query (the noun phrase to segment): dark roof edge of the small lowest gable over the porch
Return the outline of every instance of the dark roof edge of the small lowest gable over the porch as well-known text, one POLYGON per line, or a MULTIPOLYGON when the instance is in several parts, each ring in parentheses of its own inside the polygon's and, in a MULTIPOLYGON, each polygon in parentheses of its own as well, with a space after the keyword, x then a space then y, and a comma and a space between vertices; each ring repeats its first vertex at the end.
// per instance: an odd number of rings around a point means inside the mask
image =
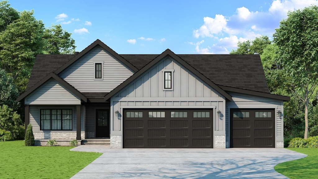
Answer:
POLYGON ((17 98, 17 101, 21 101, 22 99, 24 99, 25 97, 27 97, 29 94, 31 94, 34 90, 36 90, 38 87, 40 87, 43 83, 47 82, 49 79, 53 78, 54 80, 56 80, 59 84, 63 85, 67 90, 71 91, 74 95, 76 95, 77 97, 79 97, 81 100, 83 100, 84 102, 87 102, 87 98, 81 93, 79 92, 77 89, 75 89, 73 86, 71 86, 68 82, 64 81, 62 78, 60 78, 58 75, 56 75, 55 73, 51 72, 49 75, 45 76, 45 78, 43 78, 42 80, 40 80, 38 83, 36 83, 35 85, 33 85, 30 89, 28 89, 27 91, 25 91, 22 95, 20 95, 17 98))

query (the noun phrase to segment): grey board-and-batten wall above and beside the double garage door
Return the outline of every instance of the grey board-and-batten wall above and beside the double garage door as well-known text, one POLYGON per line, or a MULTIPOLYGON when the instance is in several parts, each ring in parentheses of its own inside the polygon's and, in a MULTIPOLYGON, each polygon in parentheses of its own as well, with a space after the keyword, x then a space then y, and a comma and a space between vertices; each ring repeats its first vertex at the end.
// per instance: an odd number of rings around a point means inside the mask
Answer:
POLYGON ((122 121, 115 111, 127 108, 195 108, 213 109, 214 134, 224 133, 224 120, 215 111, 225 111, 225 97, 199 79, 171 57, 165 57, 111 98, 111 135, 121 135, 122 121), (163 90, 162 70, 173 69, 173 90, 163 90), (214 125, 215 126, 215 125, 214 125))

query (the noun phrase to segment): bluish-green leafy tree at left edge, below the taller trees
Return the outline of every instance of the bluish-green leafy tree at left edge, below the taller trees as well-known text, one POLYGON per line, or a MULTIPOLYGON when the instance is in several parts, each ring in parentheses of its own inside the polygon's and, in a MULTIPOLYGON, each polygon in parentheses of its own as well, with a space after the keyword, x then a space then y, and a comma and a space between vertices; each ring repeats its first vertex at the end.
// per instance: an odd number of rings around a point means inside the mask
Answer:
POLYGON ((0 69, 0 106, 8 105, 10 108, 17 110, 17 97, 19 92, 13 83, 13 78, 7 75, 5 70, 0 69))

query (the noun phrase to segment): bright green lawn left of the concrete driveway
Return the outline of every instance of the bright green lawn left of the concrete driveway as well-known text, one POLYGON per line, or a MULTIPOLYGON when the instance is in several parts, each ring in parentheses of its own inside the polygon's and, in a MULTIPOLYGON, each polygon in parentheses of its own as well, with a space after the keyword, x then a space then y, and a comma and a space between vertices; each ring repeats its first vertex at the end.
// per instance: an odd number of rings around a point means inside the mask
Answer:
POLYGON ((0 142, 0 178, 70 178, 101 155, 71 148, 25 147, 23 140, 0 142))

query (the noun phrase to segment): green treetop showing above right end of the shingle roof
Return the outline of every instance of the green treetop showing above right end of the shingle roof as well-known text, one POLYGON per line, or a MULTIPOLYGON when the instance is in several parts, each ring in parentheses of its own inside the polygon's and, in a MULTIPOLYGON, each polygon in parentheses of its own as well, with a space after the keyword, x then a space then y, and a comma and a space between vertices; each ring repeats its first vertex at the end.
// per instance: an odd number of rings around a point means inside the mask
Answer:
POLYGON ((271 44, 271 41, 267 36, 261 35, 254 40, 247 40, 244 42, 238 42, 238 48, 232 50, 230 54, 262 54, 267 45, 271 44))

